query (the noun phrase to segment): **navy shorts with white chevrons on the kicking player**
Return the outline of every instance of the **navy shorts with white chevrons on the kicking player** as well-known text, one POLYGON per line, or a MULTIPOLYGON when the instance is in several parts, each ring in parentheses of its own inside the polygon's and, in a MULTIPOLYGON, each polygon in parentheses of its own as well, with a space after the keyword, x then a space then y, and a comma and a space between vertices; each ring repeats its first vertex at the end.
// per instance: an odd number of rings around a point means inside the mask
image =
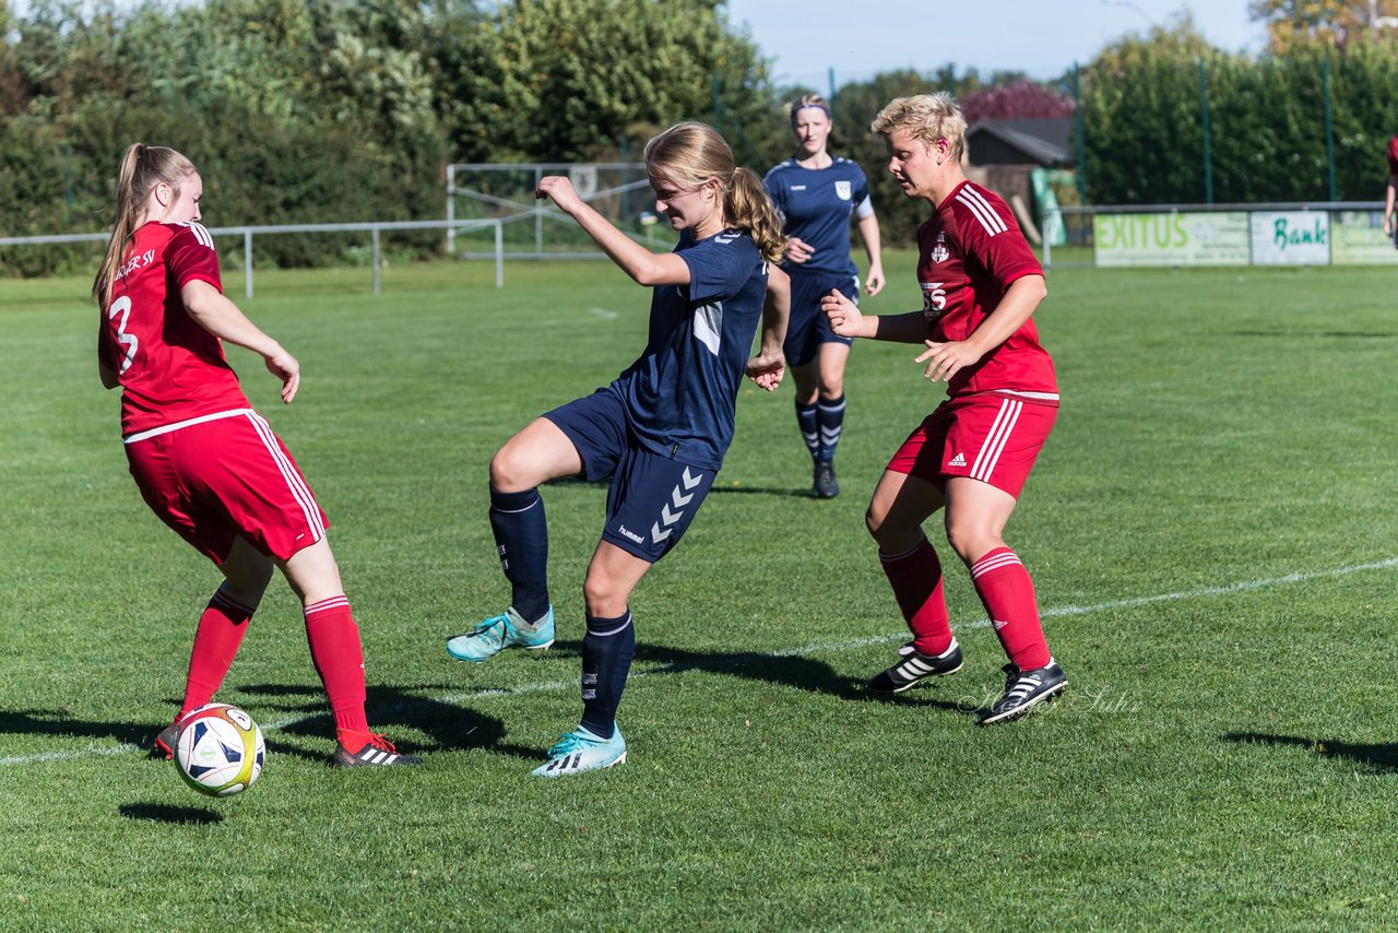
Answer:
POLYGON ((583 478, 611 477, 603 540, 650 564, 668 554, 709 495, 714 471, 646 449, 626 424, 626 403, 608 389, 544 417, 577 448, 583 478))

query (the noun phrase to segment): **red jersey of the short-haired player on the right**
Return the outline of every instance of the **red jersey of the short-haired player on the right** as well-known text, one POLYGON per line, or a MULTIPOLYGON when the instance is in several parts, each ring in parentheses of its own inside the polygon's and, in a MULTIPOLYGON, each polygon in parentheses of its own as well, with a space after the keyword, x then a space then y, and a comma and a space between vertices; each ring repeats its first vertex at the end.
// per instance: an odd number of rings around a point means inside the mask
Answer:
MULTIPOLYGON (((938 204, 918 228, 917 246, 923 315, 937 341, 965 340, 995 312, 1011 283, 1043 274, 1005 201, 970 182, 938 204)), ((949 396, 972 392, 1028 393, 1057 403, 1053 359, 1039 346, 1033 318, 946 387, 949 396)))

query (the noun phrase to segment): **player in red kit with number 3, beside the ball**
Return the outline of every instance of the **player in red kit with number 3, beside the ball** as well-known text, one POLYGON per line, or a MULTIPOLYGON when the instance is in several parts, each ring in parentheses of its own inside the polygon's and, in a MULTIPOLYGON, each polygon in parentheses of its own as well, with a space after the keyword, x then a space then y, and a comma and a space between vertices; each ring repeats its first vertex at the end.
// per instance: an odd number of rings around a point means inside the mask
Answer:
POLYGON ((204 183, 172 148, 122 157, 112 239, 92 284, 98 373, 122 387, 122 435, 147 505, 224 581, 199 618, 185 698, 154 754, 173 755, 180 718, 210 702, 233 663, 273 567, 301 597, 340 767, 412 765, 369 729, 359 628, 326 540, 329 520, 281 439, 253 411, 221 341, 261 355, 291 404, 301 364, 224 297, 200 227, 204 183))

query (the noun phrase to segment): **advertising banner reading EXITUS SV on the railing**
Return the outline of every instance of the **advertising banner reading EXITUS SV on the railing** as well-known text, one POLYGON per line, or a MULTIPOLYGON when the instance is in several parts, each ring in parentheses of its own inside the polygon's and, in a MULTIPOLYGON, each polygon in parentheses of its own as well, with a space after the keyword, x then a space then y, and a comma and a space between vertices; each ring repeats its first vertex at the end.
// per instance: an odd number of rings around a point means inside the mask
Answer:
POLYGON ((1247 266, 1247 211, 1096 214, 1097 266, 1247 266))

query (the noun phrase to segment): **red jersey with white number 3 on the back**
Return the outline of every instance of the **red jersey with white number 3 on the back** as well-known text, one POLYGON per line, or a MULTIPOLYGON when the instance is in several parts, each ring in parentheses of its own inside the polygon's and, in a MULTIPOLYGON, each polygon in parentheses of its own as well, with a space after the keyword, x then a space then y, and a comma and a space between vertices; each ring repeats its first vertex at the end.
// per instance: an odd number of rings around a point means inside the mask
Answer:
POLYGON ((218 337, 185 311, 179 290, 203 280, 222 291, 214 238, 199 224, 136 231, 112 284, 99 350, 122 383, 122 434, 247 408, 218 337))

